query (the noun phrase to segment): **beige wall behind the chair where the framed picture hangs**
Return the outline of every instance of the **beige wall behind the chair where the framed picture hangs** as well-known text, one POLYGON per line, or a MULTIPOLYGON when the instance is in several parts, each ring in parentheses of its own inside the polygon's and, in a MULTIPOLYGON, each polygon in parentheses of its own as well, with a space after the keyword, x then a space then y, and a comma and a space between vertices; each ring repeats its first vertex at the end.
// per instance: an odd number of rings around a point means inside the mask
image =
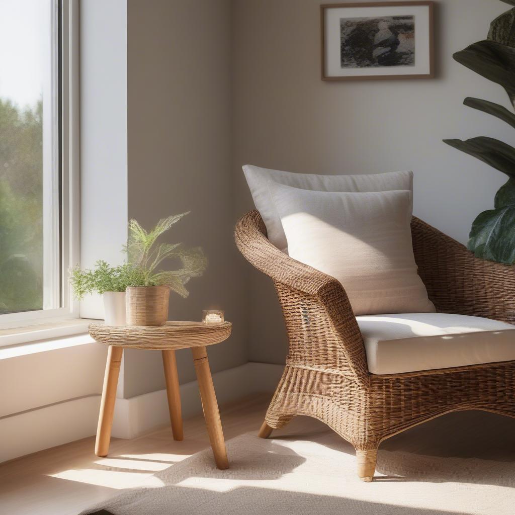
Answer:
MULTIPOLYGON (((320 80, 318 0, 235 0, 233 173, 237 214, 252 208, 241 165, 319 174, 413 169, 415 214, 466 242, 493 207, 506 177, 444 145, 476 135, 511 140, 510 128, 462 106, 466 96, 508 106, 504 91, 452 59, 486 37, 509 6, 485 0, 437 2, 433 80, 320 80)), ((286 337, 273 288, 251 274, 251 361, 283 363, 286 337)))

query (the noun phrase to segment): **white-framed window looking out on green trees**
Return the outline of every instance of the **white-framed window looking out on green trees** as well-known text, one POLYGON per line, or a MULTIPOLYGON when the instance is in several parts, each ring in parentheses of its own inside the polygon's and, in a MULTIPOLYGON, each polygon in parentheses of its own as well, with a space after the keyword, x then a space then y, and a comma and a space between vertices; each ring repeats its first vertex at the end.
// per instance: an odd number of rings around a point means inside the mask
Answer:
POLYGON ((0 328, 77 316, 77 3, 0 0, 0 328))

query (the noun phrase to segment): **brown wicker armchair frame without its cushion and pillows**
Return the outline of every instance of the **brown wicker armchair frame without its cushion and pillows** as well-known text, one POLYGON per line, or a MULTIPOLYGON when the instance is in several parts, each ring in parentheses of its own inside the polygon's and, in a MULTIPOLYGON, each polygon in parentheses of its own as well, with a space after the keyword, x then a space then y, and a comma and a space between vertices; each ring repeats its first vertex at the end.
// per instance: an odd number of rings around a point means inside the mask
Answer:
MULTIPOLYGON (((438 312, 515 323, 515 267, 477 259, 415 217, 411 232, 420 277, 438 312)), ((381 441, 410 427, 465 409, 515 417, 515 361, 371 374, 338 281, 274 247, 257 211, 238 221, 235 239, 245 258, 273 279, 289 339, 261 437, 296 415, 317 418, 354 445, 358 476, 370 482, 381 441)))

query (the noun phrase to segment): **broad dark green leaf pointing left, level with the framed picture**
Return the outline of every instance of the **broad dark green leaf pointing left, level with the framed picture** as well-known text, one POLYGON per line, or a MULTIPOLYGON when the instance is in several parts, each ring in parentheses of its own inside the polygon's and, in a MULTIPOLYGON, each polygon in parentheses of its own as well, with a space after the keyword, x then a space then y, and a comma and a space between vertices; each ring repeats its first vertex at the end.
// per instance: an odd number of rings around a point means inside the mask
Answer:
POLYGON ((460 64, 492 82, 501 84, 515 101, 515 48, 494 41, 479 41, 453 55, 460 64))

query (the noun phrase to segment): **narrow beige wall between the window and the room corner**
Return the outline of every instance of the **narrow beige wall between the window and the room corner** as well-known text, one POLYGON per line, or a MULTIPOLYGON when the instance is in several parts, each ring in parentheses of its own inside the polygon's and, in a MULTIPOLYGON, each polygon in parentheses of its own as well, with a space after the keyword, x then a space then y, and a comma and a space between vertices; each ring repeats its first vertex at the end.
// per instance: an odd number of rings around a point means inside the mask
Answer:
MULTIPOLYGON (((230 141, 230 1, 129 0, 128 212, 145 227, 191 210, 167 241, 201 245, 208 271, 170 297, 169 317, 200 320, 220 306, 231 338, 209 350, 213 371, 248 361, 242 263, 233 243, 230 141), (238 272, 238 270, 241 270, 238 272)), ((195 378, 178 352, 181 382, 195 378)), ((128 352, 124 397, 164 388, 158 352, 128 352)))

